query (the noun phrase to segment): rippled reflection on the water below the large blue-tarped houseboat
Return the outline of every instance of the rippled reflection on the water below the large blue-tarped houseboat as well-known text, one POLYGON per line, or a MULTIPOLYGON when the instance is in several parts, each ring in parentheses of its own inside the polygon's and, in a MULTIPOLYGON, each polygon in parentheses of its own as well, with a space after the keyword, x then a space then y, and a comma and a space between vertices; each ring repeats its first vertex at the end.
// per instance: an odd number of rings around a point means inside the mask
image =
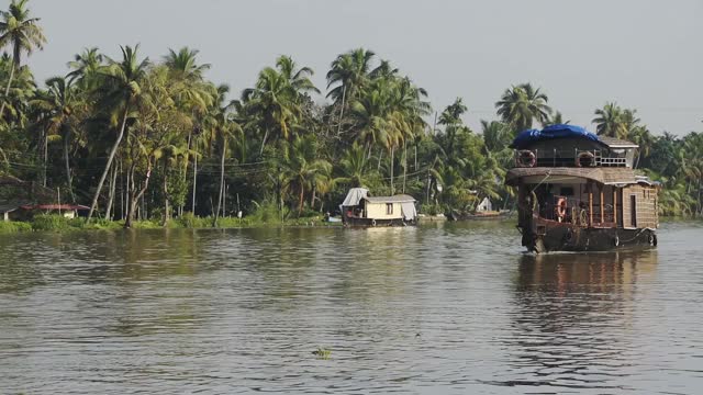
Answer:
POLYGON ((510 369, 529 372, 511 385, 625 390, 636 286, 656 274, 657 250, 524 255, 518 259, 510 369))

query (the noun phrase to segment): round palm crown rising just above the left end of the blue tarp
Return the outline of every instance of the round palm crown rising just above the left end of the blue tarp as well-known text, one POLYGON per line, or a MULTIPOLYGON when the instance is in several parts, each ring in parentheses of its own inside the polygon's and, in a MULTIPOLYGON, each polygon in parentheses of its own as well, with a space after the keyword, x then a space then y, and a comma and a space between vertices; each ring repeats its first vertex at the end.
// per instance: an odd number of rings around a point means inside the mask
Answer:
POLYGON ((506 89, 495 108, 502 121, 520 132, 532 128, 535 121, 544 124, 549 120, 551 108, 547 105, 548 101, 539 88, 535 89, 527 82, 506 89))

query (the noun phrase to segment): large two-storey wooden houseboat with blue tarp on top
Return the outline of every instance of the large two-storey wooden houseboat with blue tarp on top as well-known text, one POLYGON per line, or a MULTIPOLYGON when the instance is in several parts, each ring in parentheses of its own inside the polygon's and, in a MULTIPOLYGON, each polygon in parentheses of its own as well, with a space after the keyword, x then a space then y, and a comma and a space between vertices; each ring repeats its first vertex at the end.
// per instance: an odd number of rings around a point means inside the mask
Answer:
POLYGON ((534 252, 656 246, 659 184, 636 176, 638 146, 572 125, 517 135, 517 228, 534 252))

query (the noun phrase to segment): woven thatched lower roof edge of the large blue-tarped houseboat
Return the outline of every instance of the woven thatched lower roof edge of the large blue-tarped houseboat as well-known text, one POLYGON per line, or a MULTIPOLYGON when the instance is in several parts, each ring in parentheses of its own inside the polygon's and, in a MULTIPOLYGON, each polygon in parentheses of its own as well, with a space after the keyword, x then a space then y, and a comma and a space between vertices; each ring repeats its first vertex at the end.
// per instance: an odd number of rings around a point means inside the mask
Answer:
POLYGON ((634 184, 639 182, 631 168, 514 168, 505 174, 505 184, 515 187, 524 177, 545 177, 543 182, 557 182, 559 178, 582 178, 604 184, 634 184))

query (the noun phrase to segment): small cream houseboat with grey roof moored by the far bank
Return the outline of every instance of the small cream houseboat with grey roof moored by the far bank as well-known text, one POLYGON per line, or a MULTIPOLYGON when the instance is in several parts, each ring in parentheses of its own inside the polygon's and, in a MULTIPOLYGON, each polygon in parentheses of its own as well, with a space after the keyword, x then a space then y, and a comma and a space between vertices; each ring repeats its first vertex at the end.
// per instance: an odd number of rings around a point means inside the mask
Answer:
POLYGON ((417 223, 413 196, 370 196, 365 188, 353 188, 339 210, 345 226, 408 226, 417 223))

